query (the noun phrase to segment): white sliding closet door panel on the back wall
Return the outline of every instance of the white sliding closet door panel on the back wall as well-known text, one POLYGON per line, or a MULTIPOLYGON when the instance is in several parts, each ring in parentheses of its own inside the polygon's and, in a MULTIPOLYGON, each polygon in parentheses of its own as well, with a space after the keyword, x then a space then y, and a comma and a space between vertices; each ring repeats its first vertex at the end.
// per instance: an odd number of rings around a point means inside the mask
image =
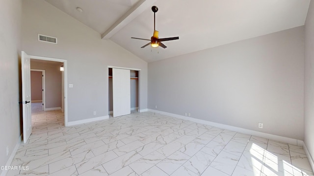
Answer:
POLYGON ((112 68, 113 117, 131 113, 130 70, 112 68))

